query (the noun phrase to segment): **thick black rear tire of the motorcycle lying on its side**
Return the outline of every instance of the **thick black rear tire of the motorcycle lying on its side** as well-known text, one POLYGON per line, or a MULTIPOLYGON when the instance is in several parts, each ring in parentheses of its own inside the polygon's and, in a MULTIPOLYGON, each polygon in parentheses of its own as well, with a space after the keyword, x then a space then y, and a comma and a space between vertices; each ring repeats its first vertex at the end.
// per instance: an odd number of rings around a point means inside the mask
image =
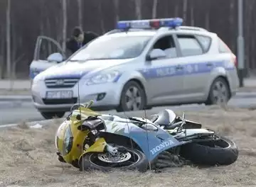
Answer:
POLYGON ((226 137, 220 137, 217 142, 188 143, 181 146, 181 157, 193 164, 229 165, 238 159, 238 147, 235 142, 226 137))

